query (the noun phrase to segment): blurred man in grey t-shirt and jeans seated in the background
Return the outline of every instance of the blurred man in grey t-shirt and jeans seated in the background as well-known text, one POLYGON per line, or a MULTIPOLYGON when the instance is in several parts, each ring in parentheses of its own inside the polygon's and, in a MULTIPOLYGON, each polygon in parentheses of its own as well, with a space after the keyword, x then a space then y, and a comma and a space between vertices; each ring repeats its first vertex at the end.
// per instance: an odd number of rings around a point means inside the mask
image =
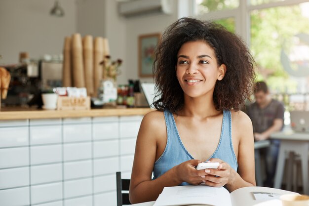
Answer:
MULTIPOLYGON (((247 114, 253 124, 254 140, 261 141, 270 138, 274 132, 283 128, 284 106, 272 99, 265 82, 256 82, 254 87, 255 102, 247 109, 247 114)), ((261 150, 265 157, 266 175, 265 186, 272 187, 275 174, 280 140, 270 140, 270 146, 261 150)))

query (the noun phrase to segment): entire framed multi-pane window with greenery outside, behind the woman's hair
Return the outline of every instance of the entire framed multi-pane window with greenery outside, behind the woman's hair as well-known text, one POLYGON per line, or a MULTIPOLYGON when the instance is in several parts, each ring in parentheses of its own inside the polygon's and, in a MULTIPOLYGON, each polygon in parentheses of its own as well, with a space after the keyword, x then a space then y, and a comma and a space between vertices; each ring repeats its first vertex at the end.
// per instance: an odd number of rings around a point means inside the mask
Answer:
POLYGON ((272 93, 309 93, 309 0, 194 0, 193 8, 242 36, 272 93))

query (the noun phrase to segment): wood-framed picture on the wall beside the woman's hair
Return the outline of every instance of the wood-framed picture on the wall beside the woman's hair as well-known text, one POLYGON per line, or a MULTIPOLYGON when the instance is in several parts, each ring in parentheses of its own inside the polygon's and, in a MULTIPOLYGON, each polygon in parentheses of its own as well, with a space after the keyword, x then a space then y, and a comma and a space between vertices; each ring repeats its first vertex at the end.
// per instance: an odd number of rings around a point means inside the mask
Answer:
POLYGON ((153 77, 154 50, 161 34, 147 34, 138 37, 138 66, 140 77, 153 77))

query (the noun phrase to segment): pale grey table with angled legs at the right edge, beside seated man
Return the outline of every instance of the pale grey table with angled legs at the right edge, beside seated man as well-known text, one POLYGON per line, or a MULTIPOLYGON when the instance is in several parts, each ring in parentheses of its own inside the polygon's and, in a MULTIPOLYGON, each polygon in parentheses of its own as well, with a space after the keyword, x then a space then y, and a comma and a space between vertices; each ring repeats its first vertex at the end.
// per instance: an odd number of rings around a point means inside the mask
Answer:
POLYGON ((274 188, 280 188, 285 164, 285 153, 294 152, 301 157, 302 177, 304 194, 309 195, 309 178, 308 178, 308 150, 309 150, 309 133, 295 132, 292 130, 276 132, 270 135, 271 139, 281 140, 276 173, 274 178, 274 188))

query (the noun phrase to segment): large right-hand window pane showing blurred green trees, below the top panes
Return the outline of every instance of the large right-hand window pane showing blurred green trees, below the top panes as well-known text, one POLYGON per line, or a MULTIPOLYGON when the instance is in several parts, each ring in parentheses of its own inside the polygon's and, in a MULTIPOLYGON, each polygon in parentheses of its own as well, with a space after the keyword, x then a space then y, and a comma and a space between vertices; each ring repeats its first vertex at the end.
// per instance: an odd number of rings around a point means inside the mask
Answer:
POLYGON ((309 3, 251 11, 251 51, 273 92, 309 90, 309 3), (297 23, 295 23, 297 22, 297 23))

